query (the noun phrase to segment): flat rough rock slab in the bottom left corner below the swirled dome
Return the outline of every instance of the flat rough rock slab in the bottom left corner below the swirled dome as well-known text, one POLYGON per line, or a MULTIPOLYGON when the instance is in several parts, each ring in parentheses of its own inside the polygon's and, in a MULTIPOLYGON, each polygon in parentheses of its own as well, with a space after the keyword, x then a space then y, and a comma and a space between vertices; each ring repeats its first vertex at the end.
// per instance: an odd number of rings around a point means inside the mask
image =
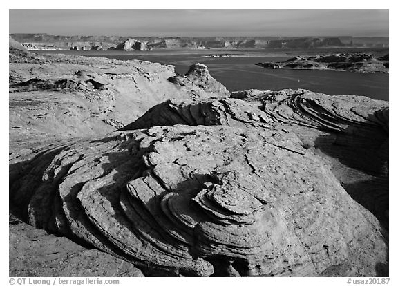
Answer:
POLYGON ((10 215, 9 276, 144 276, 131 263, 64 237, 49 235, 10 215))

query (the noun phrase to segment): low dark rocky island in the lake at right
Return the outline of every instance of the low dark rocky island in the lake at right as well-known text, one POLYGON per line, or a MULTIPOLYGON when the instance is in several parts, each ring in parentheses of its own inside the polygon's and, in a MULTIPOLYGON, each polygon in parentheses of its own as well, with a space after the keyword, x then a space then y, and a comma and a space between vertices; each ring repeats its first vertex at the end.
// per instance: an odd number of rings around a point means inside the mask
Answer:
POLYGON ((283 62, 258 63, 270 69, 291 68, 305 70, 346 70, 357 73, 388 73, 388 57, 375 59, 366 53, 339 53, 312 57, 297 56, 283 62))

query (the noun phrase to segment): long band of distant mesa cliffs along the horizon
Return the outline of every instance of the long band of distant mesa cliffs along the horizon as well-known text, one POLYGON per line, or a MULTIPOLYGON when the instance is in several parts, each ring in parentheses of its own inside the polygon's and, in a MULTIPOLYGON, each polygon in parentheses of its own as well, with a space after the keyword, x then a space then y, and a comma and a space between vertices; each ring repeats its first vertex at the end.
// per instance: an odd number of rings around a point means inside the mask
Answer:
POLYGON ((384 48, 389 44, 388 37, 120 37, 48 34, 10 34, 10 36, 16 41, 33 44, 38 49, 44 50, 384 48))

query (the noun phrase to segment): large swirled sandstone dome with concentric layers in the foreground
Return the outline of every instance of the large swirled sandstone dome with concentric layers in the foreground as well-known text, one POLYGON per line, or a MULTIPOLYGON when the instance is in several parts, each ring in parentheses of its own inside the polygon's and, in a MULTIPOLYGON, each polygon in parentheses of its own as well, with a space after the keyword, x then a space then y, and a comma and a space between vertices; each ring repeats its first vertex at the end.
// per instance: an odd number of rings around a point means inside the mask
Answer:
POLYGON ((156 126, 15 153, 30 224, 189 276, 375 276, 379 222, 285 131, 156 126))

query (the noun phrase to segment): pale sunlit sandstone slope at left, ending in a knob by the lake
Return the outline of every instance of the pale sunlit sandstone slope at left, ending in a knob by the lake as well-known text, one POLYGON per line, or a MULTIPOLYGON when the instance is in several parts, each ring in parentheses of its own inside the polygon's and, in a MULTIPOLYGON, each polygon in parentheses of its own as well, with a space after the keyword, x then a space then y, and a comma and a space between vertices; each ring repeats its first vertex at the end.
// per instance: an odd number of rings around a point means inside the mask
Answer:
POLYGON ((229 94, 206 68, 193 68, 189 84, 181 86, 167 80, 176 75, 173 66, 39 56, 14 46, 9 77, 11 150, 15 142, 31 145, 115 131, 169 98, 203 99, 218 95, 218 88, 221 95, 229 94))

